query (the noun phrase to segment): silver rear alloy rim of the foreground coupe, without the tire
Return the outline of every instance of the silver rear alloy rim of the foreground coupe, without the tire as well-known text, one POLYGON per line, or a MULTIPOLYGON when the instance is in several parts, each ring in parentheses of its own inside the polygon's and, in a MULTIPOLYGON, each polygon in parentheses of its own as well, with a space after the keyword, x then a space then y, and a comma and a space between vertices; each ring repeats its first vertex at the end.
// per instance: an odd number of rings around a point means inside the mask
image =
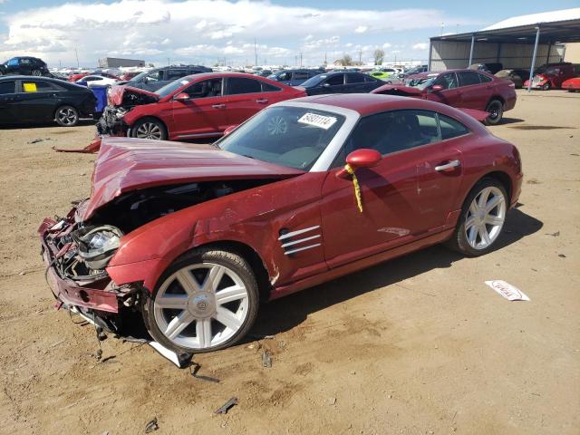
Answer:
POLYGON ((506 220, 506 198, 496 187, 482 189, 471 204, 465 220, 469 246, 481 250, 489 247, 501 233, 506 220))

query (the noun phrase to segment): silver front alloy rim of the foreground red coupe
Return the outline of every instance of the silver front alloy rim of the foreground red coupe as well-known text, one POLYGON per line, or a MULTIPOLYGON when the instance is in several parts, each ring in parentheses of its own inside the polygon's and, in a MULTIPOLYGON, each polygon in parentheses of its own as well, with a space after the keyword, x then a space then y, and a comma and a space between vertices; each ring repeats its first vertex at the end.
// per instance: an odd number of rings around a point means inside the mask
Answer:
POLYGON ((227 342, 248 315, 249 295, 236 272, 214 263, 179 269, 155 295, 155 323, 172 343, 207 349, 227 342))

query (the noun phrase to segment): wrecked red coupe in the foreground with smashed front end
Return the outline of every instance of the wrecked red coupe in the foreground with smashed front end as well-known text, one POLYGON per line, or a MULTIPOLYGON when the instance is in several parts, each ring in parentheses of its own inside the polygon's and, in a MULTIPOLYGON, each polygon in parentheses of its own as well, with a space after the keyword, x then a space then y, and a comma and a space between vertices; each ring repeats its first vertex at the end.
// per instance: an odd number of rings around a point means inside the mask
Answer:
MULTIPOLYGON (((58 304, 178 353, 240 340, 259 302, 446 242, 493 249, 516 147, 437 102, 324 95, 213 145, 107 138, 92 195, 39 228, 58 304)), ((340 289, 337 289, 340 291, 340 289)))

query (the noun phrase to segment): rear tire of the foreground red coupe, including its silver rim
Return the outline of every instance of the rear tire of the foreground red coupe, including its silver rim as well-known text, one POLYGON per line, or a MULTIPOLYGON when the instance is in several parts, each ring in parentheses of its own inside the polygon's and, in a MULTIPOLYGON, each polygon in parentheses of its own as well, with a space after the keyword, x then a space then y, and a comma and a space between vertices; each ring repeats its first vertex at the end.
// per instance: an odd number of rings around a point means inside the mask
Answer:
POLYGON ((447 246, 465 256, 483 256, 494 246, 507 214, 506 188, 497 179, 481 179, 471 189, 447 246))

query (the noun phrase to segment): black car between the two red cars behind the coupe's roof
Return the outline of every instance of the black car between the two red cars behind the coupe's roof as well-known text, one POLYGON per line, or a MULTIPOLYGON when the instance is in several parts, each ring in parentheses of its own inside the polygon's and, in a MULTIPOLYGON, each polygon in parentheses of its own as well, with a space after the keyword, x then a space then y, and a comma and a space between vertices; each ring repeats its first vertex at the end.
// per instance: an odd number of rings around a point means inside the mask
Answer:
POLYGON ((366 93, 384 82, 362 73, 333 72, 315 75, 302 83, 308 95, 323 93, 366 93))

